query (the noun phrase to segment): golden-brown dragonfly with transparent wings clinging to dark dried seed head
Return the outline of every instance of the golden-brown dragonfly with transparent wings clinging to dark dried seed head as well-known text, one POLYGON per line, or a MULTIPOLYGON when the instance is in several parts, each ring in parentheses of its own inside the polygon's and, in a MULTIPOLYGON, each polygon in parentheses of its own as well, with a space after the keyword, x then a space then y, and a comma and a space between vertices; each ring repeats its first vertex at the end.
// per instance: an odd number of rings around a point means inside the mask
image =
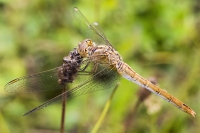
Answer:
POLYGON ((74 7, 73 12, 80 30, 88 39, 78 43, 74 51, 71 51, 63 59, 62 66, 14 79, 6 84, 5 90, 28 93, 63 89, 68 84, 74 85, 74 87, 39 105, 25 115, 59 102, 63 97, 70 99, 94 91, 113 88, 123 77, 195 117, 196 113, 189 106, 143 78, 126 64, 108 41, 98 23, 91 24, 77 7, 74 7))

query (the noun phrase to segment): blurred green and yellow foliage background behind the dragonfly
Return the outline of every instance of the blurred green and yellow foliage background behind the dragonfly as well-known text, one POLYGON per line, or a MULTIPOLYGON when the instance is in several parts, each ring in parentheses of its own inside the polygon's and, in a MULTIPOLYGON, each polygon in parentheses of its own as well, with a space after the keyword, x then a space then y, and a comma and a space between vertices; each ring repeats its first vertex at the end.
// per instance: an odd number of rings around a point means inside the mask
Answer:
MULTIPOLYGON (((0 132, 57 133, 61 103, 23 117, 61 92, 9 94, 10 80, 62 65, 84 36, 73 26, 78 7, 97 21, 124 61, 196 113, 193 118, 151 95, 124 127, 139 87, 121 80, 99 133, 197 133, 200 125, 200 2, 198 0, 3 0, 0 1, 0 132)), ((112 89, 67 103, 65 130, 90 132, 112 89)))

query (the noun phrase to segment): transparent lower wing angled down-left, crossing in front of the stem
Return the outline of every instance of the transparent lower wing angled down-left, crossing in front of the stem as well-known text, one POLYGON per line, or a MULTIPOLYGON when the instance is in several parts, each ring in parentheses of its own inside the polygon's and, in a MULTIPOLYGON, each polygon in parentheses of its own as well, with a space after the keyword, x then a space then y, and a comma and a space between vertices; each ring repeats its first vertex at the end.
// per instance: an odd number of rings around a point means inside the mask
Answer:
MULTIPOLYGON (((79 82, 79 85, 77 85, 73 89, 70 89, 70 90, 52 98, 51 100, 43 103, 42 105, 34 108, 33 110, 27 112, 24 115, 27 115, 34 111, 45 108, 56 102, 61 102, 63 98, 70 99, 70 98, 84 95, 87 93, 92 93, 92 92, 99 91, 99 90, 114 88, 120 78, 119 74, 115 70, 112 70, 105 66, 102 67, 100 65, 98 66, 96 72, 92 75, 93 75, 92 77, 86 79, 82 83, 79 82)), ((91 76, 91 75, 88 75, 88 76, 91 76)), ((77 77, 77 79, 79 79, 79 78, 80 77, 77 77)), ((79 81, 79 80, 77 80, 77 81, 79 81)))

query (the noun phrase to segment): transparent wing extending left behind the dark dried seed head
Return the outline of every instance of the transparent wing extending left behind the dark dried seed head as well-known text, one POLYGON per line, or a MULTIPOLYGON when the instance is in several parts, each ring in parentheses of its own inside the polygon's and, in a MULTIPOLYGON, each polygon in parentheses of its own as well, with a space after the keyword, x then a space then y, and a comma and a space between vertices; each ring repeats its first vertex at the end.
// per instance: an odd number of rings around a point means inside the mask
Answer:
POLYGON ((58 70, 60 68, 57 67, 30 76, 16 78, 5 85, 5 91, 31 93, 63 89, 63 85, 58 84, 58 70))

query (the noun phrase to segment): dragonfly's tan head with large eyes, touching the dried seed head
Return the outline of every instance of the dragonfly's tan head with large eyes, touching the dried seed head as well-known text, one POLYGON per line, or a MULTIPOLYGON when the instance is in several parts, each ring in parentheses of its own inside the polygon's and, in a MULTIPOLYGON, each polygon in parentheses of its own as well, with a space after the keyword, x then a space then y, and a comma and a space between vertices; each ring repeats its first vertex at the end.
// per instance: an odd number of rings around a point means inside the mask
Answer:
POLYGON ((88 49, 93 47, 94 43, 92 42, 91 39, 85 39, 83 42, 78 43, 78 53, 82 57, 87 57, 88 56, 88 49))

